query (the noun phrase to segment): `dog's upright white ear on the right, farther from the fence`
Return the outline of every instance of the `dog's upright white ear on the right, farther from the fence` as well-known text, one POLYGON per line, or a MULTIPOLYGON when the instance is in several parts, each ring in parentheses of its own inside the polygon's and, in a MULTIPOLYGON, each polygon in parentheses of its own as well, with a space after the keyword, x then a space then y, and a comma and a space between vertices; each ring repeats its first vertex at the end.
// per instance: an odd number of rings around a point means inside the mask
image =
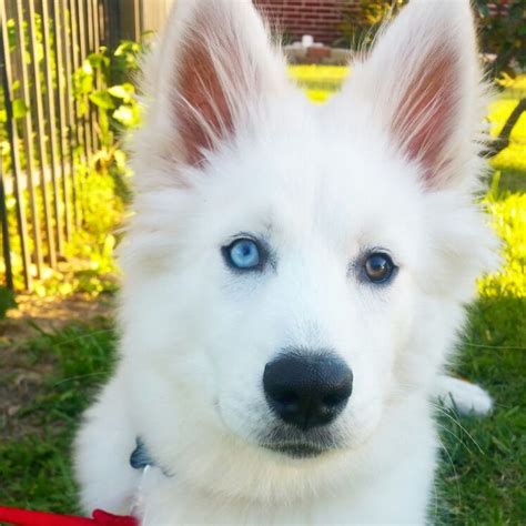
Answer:
POLYGON ((347 89, 421 164, 428 186, 463 184, 484 111, 468 0, 412 0, 354 65, 347 89))

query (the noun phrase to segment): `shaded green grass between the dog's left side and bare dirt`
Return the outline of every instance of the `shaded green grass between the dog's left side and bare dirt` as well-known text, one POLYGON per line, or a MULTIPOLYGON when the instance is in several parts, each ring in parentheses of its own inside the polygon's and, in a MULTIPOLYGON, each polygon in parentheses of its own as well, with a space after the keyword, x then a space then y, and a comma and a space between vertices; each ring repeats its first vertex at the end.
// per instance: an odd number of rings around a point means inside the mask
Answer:
POLYGON ((94 387, 111 370, 114 347, 111 323, 98 320, 90 325, 41 333, 20 348, 22 365, 31 368, 50 363, 53 373, 17 414, 22 425, 27 422, 36 431, 0 442, 0 503, 78 512, 71 441, 94 387))

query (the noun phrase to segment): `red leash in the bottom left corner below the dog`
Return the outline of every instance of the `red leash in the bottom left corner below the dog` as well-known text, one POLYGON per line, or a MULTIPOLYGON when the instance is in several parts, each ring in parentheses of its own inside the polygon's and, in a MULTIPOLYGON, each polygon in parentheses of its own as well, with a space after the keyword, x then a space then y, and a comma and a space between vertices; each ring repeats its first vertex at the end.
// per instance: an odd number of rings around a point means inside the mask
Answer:
POLYGON ((0 506, 0 523, 13 526, 139 526, 135 517, 113 515, 102 509, 95 509, 92 518, 88 518, 2 506, 0 506))

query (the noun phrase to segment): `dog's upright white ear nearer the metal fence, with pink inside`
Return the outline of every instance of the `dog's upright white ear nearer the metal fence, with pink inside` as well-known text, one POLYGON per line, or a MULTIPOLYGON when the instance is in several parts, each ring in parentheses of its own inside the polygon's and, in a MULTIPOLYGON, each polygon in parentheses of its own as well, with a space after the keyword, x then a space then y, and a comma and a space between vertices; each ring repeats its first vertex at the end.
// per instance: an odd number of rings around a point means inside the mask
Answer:
POLYGON ((158 112, 190 165, 229 140, 285 82, 262 20, 249 1, 178 0, 156 54, 158 112))

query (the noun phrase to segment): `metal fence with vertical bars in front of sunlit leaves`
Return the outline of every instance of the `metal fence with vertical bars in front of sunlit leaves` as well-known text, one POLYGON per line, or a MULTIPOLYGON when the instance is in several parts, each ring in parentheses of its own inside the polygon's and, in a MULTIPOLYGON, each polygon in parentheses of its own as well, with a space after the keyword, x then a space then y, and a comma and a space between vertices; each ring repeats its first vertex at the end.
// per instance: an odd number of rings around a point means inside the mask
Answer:
MULTIPOLYGON (((111 50, 155 29, 146 27, 148 13, 168 3, 0 0, 1 264, 9 287, 13 257, 31 290, 82 227, 75 166, 97 150, 98 123, 94 109, 80 111, 74 72, 101 45, 111 50)), ((102 79, 95 82, 100 89, 102 79)))

